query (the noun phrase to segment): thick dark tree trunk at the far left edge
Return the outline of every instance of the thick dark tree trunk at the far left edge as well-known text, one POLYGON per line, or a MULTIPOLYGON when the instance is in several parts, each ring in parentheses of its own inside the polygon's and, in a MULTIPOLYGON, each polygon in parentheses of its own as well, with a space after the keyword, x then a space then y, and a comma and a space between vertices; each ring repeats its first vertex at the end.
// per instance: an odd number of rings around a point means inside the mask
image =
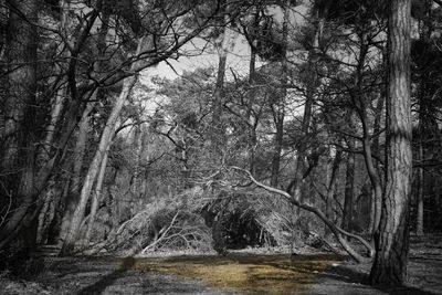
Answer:
MULTIPOLYGON (((8 1, 6 59, 8 94, 2 126, 2 189, 0 201, 11 201, 8 222, 0 229, 0 249, 19 232, 19 224, 35 210, 32 196, 35 176, 34 108, 36 91, 38 1, 8 1)), ((31 244, 34 241, 30 241, 31 244)), ((31 245, 32 246, 32 245, 31 245)))

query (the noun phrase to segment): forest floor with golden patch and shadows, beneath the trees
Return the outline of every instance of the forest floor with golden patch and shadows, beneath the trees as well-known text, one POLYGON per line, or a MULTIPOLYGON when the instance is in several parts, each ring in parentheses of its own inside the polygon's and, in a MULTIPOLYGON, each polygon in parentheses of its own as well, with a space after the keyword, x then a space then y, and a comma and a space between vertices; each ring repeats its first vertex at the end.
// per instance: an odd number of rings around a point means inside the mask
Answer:
POLYGON ((397 289, 369 286, 369 264, 298 253, 44 257, 32 280, 0 275, 0 294, 442 294, 442 241, 412 244, 410 283, 397 289))

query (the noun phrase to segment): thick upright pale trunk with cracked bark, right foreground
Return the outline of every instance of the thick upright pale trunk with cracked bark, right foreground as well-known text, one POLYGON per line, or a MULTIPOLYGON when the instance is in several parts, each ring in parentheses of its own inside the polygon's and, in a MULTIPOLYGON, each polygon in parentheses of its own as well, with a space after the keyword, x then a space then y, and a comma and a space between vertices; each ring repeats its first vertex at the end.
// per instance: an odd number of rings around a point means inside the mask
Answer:
POLYGON ((388 22, 387 175, 373 285, 400 286, 407 280, 411 192, 410 31, 411 0, 392 0, 388 22))

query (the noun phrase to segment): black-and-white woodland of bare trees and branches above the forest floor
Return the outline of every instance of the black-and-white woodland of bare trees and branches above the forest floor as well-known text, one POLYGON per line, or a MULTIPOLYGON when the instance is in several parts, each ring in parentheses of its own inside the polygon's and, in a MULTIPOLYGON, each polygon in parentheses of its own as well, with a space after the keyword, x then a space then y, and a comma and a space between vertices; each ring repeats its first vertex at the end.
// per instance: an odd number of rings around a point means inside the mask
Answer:
POLYGON ((439 0, 0 0, 2 267, 309 243, 402 284, 410 232, 442 230, 441 24, 439 0))

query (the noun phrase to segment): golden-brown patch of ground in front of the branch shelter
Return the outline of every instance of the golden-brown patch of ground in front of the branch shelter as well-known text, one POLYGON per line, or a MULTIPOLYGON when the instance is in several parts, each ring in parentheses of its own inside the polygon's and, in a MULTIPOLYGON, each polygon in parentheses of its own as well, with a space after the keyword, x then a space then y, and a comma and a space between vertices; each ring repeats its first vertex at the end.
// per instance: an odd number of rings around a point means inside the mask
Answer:
POLYGON ((137 259, 131 268, 202 280, 214 287, 256 294, 299 294, 339 260, 335 255, 179 256, 137 259))

